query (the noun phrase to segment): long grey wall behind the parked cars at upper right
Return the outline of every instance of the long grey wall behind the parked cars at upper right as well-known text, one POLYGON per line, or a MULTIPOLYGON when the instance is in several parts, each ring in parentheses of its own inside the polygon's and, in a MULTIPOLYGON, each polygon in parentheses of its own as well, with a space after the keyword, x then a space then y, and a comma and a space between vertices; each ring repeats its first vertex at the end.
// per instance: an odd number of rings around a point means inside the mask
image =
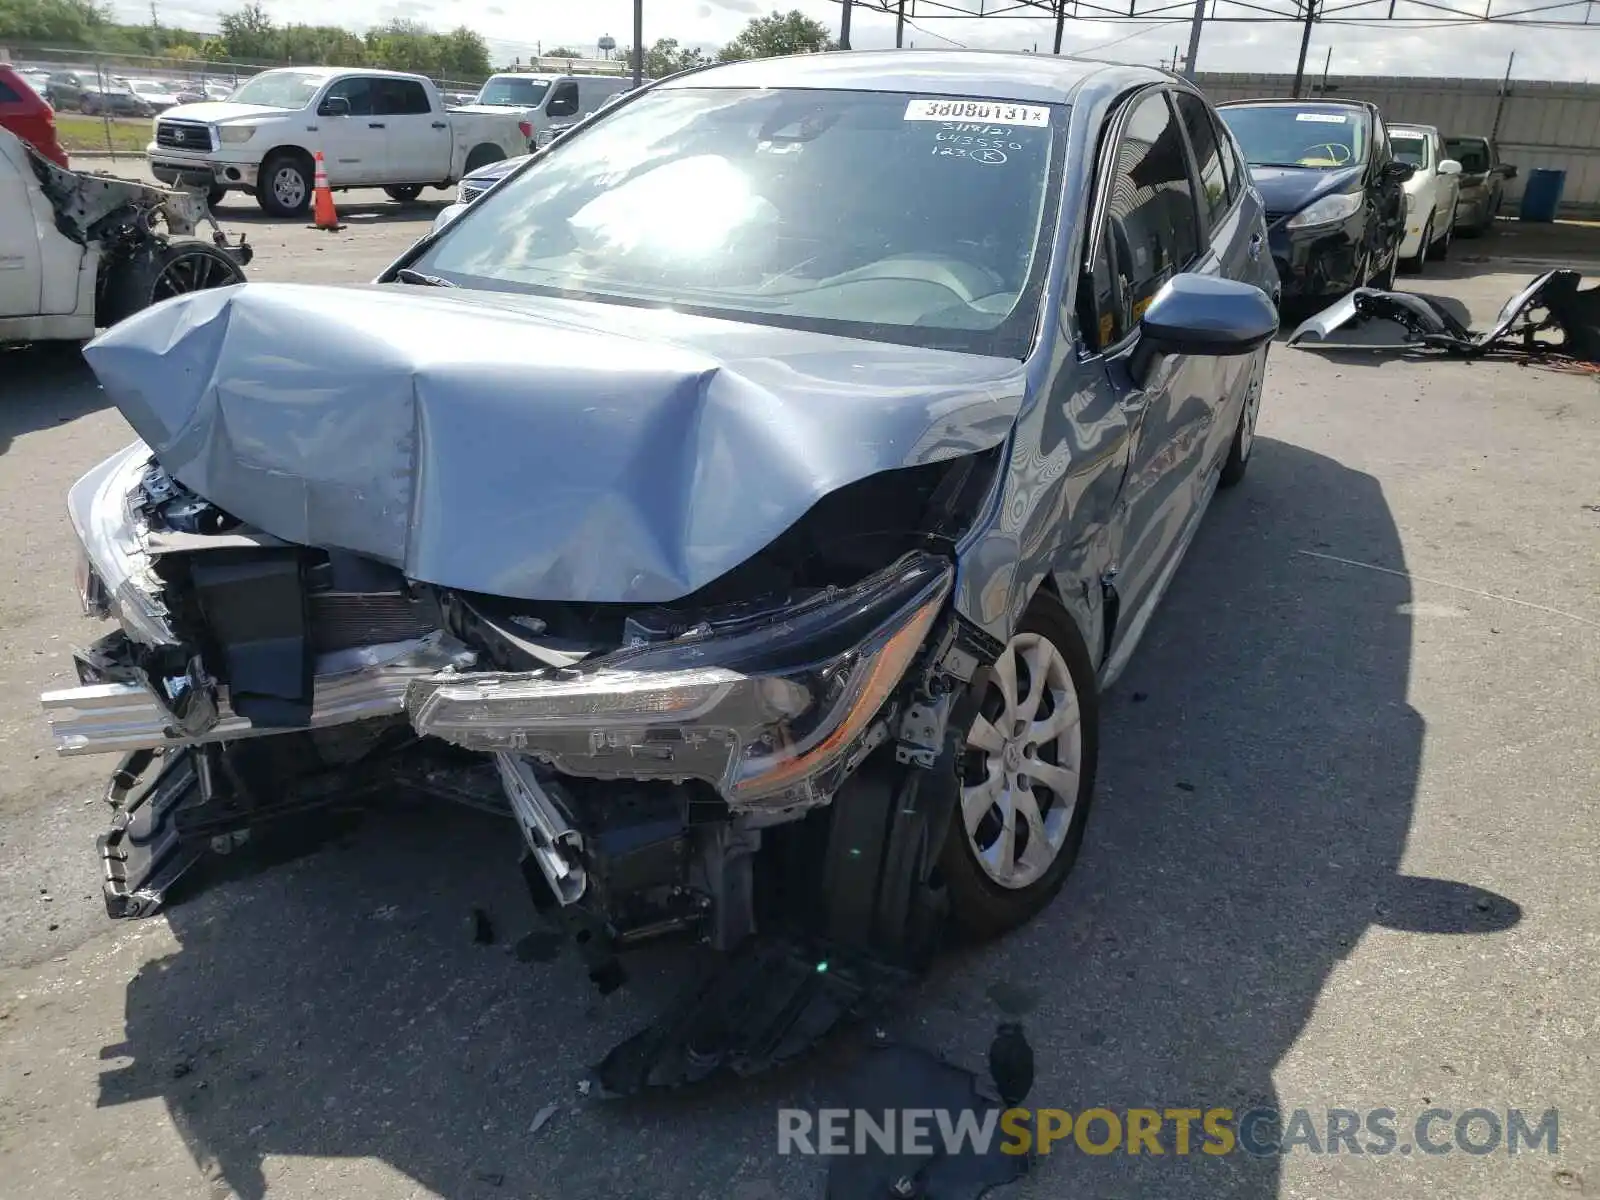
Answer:
MULTIPOLYGON (((1200 72, 1198 83, 1222 102, 1288 96, 1294 77, 1200 72)), ((1320 75, 1307 72, 1306 94, 1320 88, 1320 75)), ((1506 206, 1515 210, 1531 168, 1555 166, 1566 171, 1562 213, 1600 213, 1600 86, 1512 80, 1502 98, 1499 80, 1330 75, 1326 94, 1373 101, 1387 120, 1437 125, 1446 138, 1488 136, 1499 112, 1501 157, 1517 165, 1506 206)))

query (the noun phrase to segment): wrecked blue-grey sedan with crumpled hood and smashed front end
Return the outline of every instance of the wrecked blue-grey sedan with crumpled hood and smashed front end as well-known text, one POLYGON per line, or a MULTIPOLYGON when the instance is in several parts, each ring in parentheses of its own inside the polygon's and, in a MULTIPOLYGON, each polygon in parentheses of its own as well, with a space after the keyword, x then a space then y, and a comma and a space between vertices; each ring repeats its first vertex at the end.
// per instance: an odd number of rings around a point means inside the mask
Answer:
POLYGON ((1275 272, 1205 99, 1035 56, 640 90, 374 285, 171 301, 88 360, 142 438, 70 509, 118 630, 114 915, 421 790, 534 906, 726 950, 605 1086, 754 1070, 1061 888, 1096 696, 1254 445, 1275 272), (509 824, 510 830, 512 826, 509 824))

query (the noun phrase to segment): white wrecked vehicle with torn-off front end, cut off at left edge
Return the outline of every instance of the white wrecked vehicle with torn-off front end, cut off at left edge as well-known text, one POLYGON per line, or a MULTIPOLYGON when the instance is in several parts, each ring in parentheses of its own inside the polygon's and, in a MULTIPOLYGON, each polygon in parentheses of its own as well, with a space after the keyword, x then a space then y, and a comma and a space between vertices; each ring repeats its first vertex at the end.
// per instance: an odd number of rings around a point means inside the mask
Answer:
POLYGON ((0 130, 0 344, 77 341, 184 291, 242 283, 200 197, 67 171, 0 130))

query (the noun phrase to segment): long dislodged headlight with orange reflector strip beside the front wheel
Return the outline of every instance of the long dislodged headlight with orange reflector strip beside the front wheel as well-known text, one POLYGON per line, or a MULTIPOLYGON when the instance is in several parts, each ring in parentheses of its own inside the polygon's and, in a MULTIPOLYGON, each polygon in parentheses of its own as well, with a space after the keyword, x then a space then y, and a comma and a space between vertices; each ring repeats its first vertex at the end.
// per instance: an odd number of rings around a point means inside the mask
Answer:
POLYGON ((418 680, 406 710, 418 733, 530 754, 566 774, 704 779, 736 808, 822 803, 867 746, 952 578, 949 560, 909 554, 854 587, 576 670, 418 680))

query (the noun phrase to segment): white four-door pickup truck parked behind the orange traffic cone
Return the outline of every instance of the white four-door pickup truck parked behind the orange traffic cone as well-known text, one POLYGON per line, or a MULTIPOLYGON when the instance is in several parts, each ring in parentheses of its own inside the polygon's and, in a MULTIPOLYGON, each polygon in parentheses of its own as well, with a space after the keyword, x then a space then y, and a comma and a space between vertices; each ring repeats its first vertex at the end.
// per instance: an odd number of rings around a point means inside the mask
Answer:
POLYGON ((424 75, 354 67, 264 70, 226 101, 168 109, 154 131, 157 179, 203 187, 211 205, 251 192, 272 216, 306 211, 318 150, 334 190, 382 187, 405 203, 526 154, 531 136, 515 112, 446 109, 424 75))

